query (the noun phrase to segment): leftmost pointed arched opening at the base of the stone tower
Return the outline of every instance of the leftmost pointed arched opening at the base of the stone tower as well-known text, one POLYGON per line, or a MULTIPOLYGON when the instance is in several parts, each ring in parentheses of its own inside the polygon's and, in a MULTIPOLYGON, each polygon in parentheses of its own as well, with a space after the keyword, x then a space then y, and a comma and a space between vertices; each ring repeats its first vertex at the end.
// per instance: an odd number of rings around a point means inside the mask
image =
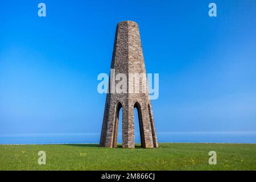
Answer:
POLYGON ((117 142, 121 143, 122 147, 122 104, 120 102, 115 108, 113 147, 117 147, 117 142))

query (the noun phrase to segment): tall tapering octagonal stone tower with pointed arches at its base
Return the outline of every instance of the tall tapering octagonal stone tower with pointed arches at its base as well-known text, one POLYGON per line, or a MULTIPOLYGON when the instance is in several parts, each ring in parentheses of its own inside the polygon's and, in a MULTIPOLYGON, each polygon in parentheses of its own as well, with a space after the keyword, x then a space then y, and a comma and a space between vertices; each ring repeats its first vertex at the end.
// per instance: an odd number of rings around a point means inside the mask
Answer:
POLYGON ((141 37, 136 22, 119 22, 115 32, 115 41, 109 92, 106 96, 104 119, 101 130, 101 147, 116 147, 119 110, 122 107, 122 147, 134 148, 134 108, 138 110, 139 130, 143 148, 158 147, 154 118, 148 93, 146 69, 144 65, 141 37), (127 77, 117 78, 119 73, 127 77), (144 75, 144 76, 143 76, 144 75), (118 81, 127 82, 127 92, 115 92, 118 81), (114 86, 113 86, 114 85, 114 86), (144 85, 144 92, 143 86, 144 85), (137 87, 136 87, 137 86, 137 87), (136 91, 136 88, 139 88, 136 91), (140 89, 141 88, 141 89, 140 89), (134 91, 135 90, 135 91, 134 91))

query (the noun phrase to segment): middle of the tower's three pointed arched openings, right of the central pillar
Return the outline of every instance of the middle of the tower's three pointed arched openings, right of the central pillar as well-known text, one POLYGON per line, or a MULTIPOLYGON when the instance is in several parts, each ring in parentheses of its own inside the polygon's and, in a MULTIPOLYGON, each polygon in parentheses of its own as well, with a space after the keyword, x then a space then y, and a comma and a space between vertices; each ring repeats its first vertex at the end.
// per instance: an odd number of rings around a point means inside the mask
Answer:
POLYGON ((142 111, 141 111, 141 105, 139 105, 138 102, 136 102, 134 104, 134 130, 135 130, 134 133, 135 133, 135 142, 137 142, 137 139, 136 139, 136 133, 137 133, 137 130, 138 130, 137 123, 139 124, 139 137, 141 138, 141 147, 145 148, 146 144, 145 144, 145 140, 144 140, 144 129, 143 129, 143 122, 142 122, 142 111), (138 120, 137 120, 137 118, 138 118, 138 120))

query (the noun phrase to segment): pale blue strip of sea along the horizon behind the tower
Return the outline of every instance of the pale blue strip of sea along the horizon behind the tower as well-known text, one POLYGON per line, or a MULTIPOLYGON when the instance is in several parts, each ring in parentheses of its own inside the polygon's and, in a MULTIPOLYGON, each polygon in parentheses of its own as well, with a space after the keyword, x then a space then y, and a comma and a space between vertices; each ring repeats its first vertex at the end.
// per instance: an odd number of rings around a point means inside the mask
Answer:
MULTIPOLYGON (((121 143, 121 133, 118 134, 121 143)), ((168 132, 157 133, 158 142, 256 143, 256 132, 168 132)), ((0 135, 0 144, 99 143, 100 133, 0 135)), ((135 142, 139 143, 139 133, 135 142)))

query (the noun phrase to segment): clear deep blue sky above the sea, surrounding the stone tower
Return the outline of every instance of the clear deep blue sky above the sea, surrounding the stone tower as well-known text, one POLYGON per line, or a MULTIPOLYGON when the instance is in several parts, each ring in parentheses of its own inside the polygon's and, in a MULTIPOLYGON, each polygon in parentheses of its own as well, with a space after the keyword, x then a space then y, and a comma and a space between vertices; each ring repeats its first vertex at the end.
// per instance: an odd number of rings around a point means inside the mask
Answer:
POLYGON ((146 71, 159 73, 157 132, 256 131, 256 1, 10 0, 0 2, 0 134, 100 133, 97 76, 123 20, 139 24, 146 71))

